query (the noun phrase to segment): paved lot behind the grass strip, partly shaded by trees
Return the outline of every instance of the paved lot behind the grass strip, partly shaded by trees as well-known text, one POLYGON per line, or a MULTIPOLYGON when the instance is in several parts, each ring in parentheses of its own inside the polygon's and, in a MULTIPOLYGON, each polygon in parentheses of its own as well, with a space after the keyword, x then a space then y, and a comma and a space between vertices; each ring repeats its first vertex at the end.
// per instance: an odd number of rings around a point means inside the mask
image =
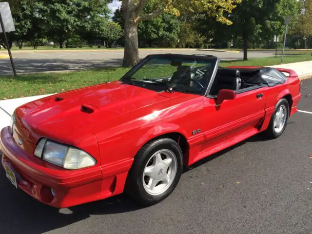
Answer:
MULTIPOLYGON (((118 66, 122 63, 123 51, 111 50, 100 51, 91 50, 89 52, 81 51, 64 51, 64 52, 19 52, 13 51, 15 57, 15 65, 18 73, 25 72, 45 72, 60 70, 79 70, 86 68, 100 68, 106 66, 118 66)), ((180 50, 140 50, 141 59, 149 54, 159 53, 181 53, 181 54, 207 54, 215 55, 220 59, 232 60, 242 59, 242 53, 234 52, 213 52, 213 51, 197 51, 196 49, 180 49, 180 50)), ((248 53, 249 58, 271 57, 272 51, 254 51, 248 53)), ((0 59, 0 75, 12 74, 11 63, 9 59, 0 59)))

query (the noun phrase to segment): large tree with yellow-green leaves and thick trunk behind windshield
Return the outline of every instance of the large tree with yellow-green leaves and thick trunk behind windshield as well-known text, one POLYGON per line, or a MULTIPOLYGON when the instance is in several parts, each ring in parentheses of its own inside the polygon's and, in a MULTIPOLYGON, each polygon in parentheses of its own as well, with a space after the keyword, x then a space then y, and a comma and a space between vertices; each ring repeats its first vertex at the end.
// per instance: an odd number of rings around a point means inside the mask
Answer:
POLYGON ((140 21, 151 20, 164 12, 180 15, 185 12, 207 11, 218 21, 231 24, 225 17, 240 0, 122 0, 124 16, 125 51, 122 65, 129 67, 138 60, 138 24, 140 21), (142 13, 147 3, 152 3, 152 11, 142 13))

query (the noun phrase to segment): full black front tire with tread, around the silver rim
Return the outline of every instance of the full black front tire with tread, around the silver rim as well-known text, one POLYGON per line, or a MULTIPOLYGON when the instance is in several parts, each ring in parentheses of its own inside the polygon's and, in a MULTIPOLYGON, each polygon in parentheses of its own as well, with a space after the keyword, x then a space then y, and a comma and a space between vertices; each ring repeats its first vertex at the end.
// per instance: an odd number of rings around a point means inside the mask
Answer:
POLYGON ((161 138, 151 141, 145 144, 135 156, 126 182, 126 193, 132 199, 137 201, 137 203, 143 206, 154 205, 165 199, 174 191, 177 183, 180 180, 182 170, 183 154, 181 148, 175 140, 171 138, 161 138), (176 174, 173 178, 173 182, 171 182, 171 185, 167 188, 166 191, 160 195, 151 195, 144 188, 143 173, 145 166, 148 165, 149 161, 152 160, 152 156, 159 150, 169 150, 174 153, 174 156, 176 157, 176 174))

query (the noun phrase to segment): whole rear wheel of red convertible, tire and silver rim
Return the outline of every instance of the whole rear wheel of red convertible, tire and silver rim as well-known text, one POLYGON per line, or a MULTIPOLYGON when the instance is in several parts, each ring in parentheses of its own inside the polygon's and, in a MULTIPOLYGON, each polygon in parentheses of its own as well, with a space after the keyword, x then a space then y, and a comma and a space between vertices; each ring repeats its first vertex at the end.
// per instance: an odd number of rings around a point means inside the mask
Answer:
POLYGON ((285 98, 277 102, 269 127, 266 130, 268 137, 277 138, 283 134, 289 117, 289 109, 289 103, 285 98))

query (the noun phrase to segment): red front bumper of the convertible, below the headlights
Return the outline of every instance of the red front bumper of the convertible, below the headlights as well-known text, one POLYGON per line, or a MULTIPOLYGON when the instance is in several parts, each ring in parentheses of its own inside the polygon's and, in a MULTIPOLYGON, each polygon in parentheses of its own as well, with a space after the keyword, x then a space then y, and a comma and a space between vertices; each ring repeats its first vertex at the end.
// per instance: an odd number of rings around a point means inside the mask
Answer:
POLYGON ((18 187, 45 204, 64 208, 103 198, 100 166, 70 171, 44 162, 20 149, 9 127, 1 131, 0 147, 2 165, 14 171, 18 187))

